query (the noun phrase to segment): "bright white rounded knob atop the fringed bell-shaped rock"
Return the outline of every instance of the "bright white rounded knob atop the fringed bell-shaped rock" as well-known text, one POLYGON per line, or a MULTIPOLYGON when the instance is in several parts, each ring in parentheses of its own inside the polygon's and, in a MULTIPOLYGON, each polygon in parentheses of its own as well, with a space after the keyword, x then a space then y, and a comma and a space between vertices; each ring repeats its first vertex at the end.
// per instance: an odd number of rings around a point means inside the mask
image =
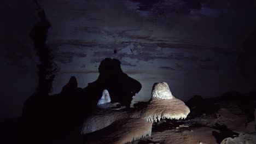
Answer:
POLYGON ((155 83, 152 89, 152 98, 172 99, 173 95, 166 82, 155 83))

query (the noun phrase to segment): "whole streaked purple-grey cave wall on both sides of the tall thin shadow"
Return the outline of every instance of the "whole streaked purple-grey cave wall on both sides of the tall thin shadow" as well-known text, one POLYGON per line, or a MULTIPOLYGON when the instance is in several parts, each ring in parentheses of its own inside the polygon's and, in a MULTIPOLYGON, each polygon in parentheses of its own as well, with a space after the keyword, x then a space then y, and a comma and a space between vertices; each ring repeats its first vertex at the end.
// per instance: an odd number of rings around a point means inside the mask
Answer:
MULTIPOLYGON (((153 83, 161 81, 182 100, 255 87, 237 65, 242 43, 255 28, 255 2, 38 2, 52 25, 48 45, 60 69, 52 94, 59 93, 71 76, 77 77, 79 87, 95 81, 106 57, 118 58, 124 73, 142 83, 134 101, 148 100, 153 83)), ((38 58, 28 34, 38 18, 36 5, 27 0, 4 1, 0 12, 0 105, 1 119, 6 119, 21 114, 24 100, 37 87, 38 58)), ((250 70, 252 65, 246 67, 250 70)))

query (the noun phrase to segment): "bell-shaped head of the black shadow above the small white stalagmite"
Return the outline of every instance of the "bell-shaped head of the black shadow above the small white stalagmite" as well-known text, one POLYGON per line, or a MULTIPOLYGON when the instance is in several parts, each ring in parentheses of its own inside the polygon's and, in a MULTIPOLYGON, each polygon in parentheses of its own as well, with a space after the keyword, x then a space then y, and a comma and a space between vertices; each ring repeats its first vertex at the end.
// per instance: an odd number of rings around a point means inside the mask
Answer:
POLYGON ((100 99, 102 91, 107 89, 112 102, 130 107, 132 97, 141 90, 142 86, 141 83, 123 73, 120 64, 118 59, 104 59, 98 67, 100 73, 98 79, 89 83, 84 91, 93 93, 97 99, 100 99))

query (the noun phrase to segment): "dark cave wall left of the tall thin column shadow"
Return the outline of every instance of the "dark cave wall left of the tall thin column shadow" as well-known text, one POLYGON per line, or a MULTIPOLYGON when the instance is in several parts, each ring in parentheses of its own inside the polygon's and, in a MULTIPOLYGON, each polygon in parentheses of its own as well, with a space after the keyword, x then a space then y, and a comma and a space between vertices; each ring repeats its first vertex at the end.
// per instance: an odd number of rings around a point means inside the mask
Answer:
POLYGON ((32 1, 0 4, 0 121, 21 115, 24 101, 36 90, 38 60, 29 33, 37 21, 32 1))

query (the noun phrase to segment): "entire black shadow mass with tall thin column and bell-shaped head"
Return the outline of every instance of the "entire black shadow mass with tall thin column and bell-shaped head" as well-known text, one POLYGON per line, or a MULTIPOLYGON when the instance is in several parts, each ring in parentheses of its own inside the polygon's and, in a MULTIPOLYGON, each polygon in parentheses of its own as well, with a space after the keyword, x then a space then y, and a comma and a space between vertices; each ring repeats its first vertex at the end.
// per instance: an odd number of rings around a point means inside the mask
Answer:
POLYGON ((65 141, 79 133, 80 123, 94 112, 104 89, 108 90, 112 102, 130 107, 132 97, 142 86, 123 73, 118 59, 106 58, 98 68, 98 79, 87 87, 79 88, 77 80, 72 76, 61 93, 49 95, 56 73, 51 49, 46 44, 51 24, 46 19, 44 10, 35 2, 40 21, 34 25, 30 37, 40 61, 38 87, 25 101, 21 119, 28 132, 26 135, 30 137, 27 143, 38 143, 38 140, 40 143, 49 143, 63 137, 65 141))

